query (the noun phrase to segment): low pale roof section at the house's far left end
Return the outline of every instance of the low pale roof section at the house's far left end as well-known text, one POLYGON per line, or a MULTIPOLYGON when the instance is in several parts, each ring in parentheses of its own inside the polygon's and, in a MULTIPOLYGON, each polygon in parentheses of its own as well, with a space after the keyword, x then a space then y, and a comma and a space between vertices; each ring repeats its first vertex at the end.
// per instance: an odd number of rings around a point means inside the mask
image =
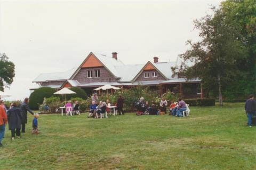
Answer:
POLYGON ((37 76, 33 83, 36 82, 47 82, 52 80, 66 80, 69 79, 75 72, 76 68, 70 69, 64 72, 53 72, 53 73, 44 73, 37 76))

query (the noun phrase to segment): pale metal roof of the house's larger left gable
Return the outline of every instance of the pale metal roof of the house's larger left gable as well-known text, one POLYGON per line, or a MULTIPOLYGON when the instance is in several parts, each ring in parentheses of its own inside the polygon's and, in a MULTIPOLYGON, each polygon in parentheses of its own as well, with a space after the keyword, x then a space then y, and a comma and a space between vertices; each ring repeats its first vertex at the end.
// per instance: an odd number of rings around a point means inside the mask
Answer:
POLYGON ((106 56, 103 54, 90 52, 90 54, 85 58, 85 60, 82 62, 82 64, 78 67, 78 69, 72 75, 71 79, 76 76, 78 71, 81 69, 83 64, 86 62, 87 58, 89 58, 89 56, 91 56, 91 55, 94 55, 95 58, 97 58, 99 60, 99 62, 103 64, 103 67, 105 67, 110 72, 110 74, 112 74, 114 77, 119 77, 118 71, 116 70, 115 66, 124 66, 124 63, 121 60, 118 60, 118 59, 116 60, 110 56, 106 56))

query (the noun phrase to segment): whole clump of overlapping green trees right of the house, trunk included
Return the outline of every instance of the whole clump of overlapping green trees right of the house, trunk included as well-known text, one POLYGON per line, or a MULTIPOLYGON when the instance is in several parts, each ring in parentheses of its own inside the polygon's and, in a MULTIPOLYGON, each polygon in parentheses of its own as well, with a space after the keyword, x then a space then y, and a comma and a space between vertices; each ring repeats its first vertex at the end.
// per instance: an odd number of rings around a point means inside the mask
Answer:
POLYGON ((204 87, 219 93, 222 104, 222 92, 237 97, 255 88, 256 7, 254 0, 226 1, 212 10, 213 15, 194 21, 202 41, 187 42, 191 48, 180 54, 184 62, 179 71, 188 79, 201 78, 204 87), (186 67, 187 60, 195 65, 186 67))

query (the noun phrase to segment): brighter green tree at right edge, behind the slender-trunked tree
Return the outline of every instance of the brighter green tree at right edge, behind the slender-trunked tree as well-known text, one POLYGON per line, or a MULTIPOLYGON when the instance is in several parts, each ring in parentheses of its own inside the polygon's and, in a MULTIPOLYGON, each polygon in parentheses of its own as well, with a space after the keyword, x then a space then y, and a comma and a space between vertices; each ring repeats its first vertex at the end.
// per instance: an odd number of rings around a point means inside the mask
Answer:
POLYGON ((225 1, 221 3, 221 10, 227 23, 239 31, 238 41, 247 48, 246 58, 236 63, 244 75, 237 76, 236 84, 227 91, 234 93, 238 88, 244 94, 256 93, 256 1, 225 1))

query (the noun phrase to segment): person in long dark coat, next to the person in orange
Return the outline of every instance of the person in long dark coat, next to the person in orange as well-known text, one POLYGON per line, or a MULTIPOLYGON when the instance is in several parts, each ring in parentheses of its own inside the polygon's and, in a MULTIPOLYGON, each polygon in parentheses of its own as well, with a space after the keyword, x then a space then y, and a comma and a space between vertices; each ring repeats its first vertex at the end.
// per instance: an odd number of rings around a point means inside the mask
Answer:
POLYGON ((21 126, 21 110, 17 107, 17 103, 12 104, 12 108, 7 112, 7 119, 9 123, 9 130, 12 132, 12 140, 16 136, 20 138, 20 126, 21 126))

